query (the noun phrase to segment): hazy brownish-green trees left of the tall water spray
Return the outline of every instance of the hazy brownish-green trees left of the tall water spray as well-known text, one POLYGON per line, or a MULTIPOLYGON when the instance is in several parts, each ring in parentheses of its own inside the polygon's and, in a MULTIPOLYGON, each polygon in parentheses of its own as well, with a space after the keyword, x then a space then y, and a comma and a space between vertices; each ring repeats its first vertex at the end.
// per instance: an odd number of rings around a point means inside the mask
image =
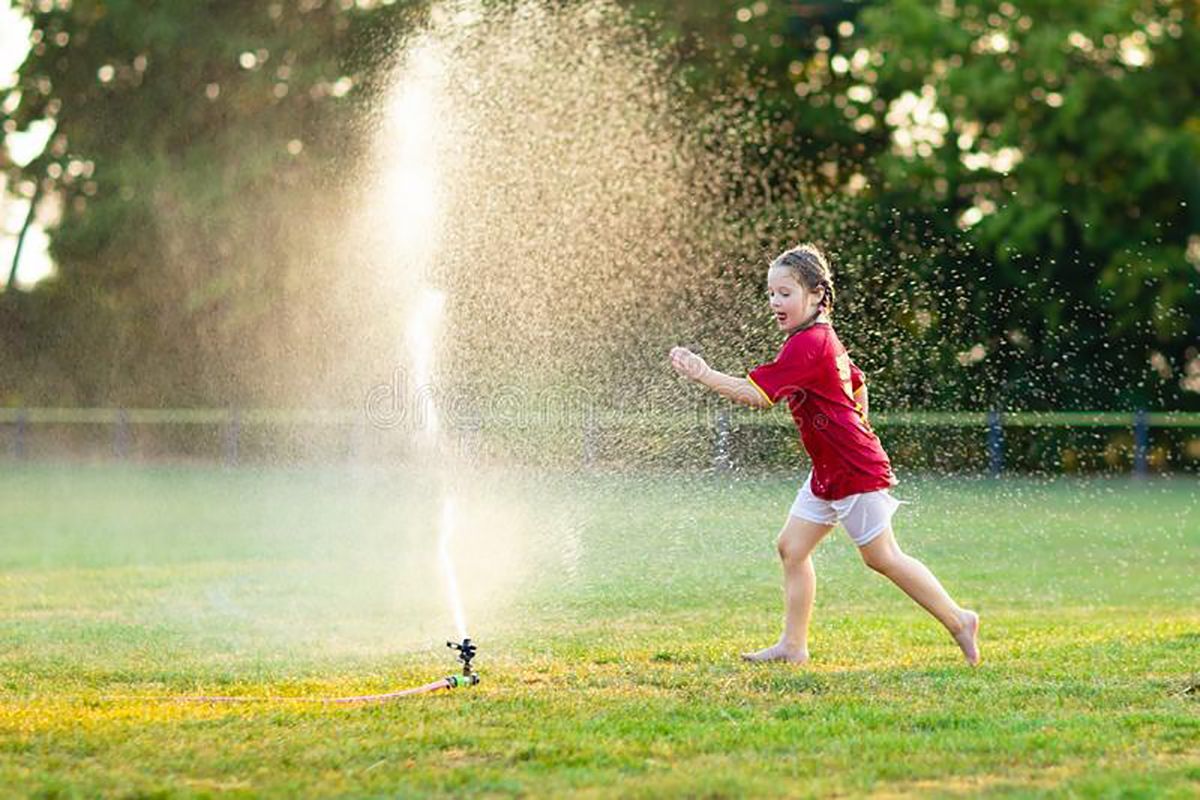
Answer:
POLYGON ((7 166, 10 186, 35 181, 62 207, 56 279, 6 296, 0 320, 36 378, 25 399, 280 402, 299 365, 336 362, 352 312, 336 270, 312 269, 337 255, 318 234, 354 188, 364 109, 422 4, 20 8, 34 44, 2 124, 56 127, 41 157, 7 166))

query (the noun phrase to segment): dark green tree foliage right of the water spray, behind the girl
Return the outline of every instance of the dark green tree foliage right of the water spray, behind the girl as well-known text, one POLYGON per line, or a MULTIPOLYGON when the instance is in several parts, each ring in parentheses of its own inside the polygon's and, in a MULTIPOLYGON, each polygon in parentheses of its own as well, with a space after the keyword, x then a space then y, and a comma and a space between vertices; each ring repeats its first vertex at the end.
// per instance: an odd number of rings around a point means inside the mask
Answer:
MULTIPOLYGON (((1194 5, 746 2, 662 14, 701 102, 739 88, 754 101, 763 149, 784 154, 772 180, 798 170, 826 190, 767 213, 791 217, 792 236, 828 235, 842 255, 844 281, 868 295, 854 293, 851 336, 893 398, 1200 405, 1194 5), (815 223, 829 192, 841 196, 833 224, 815 223)), ((744 281, 761 281, 758 267, 744 281)))

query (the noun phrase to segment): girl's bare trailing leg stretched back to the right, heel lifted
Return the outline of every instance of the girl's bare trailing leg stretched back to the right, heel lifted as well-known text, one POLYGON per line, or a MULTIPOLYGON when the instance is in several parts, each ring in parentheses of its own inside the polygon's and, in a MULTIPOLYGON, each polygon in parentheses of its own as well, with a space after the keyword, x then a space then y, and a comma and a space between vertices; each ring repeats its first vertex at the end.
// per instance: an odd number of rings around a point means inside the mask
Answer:
POLYGON ((924 564, 900 549, 892 528, 858 548, 866 566, 900 587, 946 626, 972 666, 979 663, 979 615, 961 608, 924 564))

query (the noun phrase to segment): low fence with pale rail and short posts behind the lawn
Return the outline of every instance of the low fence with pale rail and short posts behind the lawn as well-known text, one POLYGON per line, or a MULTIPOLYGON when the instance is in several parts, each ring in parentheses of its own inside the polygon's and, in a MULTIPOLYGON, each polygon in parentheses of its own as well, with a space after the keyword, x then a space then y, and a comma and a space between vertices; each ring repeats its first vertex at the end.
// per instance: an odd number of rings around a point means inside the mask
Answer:
MULTIPOLYGON (((485 431, 499 427, 577 428, 584 463, 595 458, 598 432, 606 427, 674 428, 707 427, 713 432, 713 465, 732 465, 731 437, 738 428, 766 428, 791 425, 782 413, 762 413, 740 407, 704 407, 694 411, 622 411, 580 409, 574 415, 476 416, 448 427, 485 431)), ((11 427, 11 451, 18 458, 26 452, 25 440, 32 425, 90 425, 113 427, 113 452, 127 457, 131 426, 212 426, 222 431, 227 463, 236 463, 242 428, 246 426, 340 426, 366 431, 372 423, 365 409, 239 409, 239 408, 0 408, 0 426, 11 427)), ((986 432, 989 470, 998 475, 1004 465, 1006 428, 1129 428, 1133 433, 1133 470, 1147 471, 1151 428, 1200 428, 1200 413, 1188 411, 878 411, 871 415, 876 428, 941 427, 978 428, 986 432)), ((391 427, 391 426, 377 426, 391 427)))

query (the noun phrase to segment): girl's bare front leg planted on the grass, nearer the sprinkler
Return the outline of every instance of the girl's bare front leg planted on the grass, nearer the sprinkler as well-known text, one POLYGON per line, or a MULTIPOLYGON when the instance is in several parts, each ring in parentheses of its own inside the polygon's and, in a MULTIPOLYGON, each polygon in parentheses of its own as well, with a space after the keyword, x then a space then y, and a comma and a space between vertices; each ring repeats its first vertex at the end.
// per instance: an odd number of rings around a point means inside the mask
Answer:
POLYGON ((812 551, 833 525, 788 517, 779 531, 779 558, 784 561, 784 633, 766 650, 745 652, 746 661, 809 660, 809 619, 816 599, 817 576, 812 569, 812 551))

